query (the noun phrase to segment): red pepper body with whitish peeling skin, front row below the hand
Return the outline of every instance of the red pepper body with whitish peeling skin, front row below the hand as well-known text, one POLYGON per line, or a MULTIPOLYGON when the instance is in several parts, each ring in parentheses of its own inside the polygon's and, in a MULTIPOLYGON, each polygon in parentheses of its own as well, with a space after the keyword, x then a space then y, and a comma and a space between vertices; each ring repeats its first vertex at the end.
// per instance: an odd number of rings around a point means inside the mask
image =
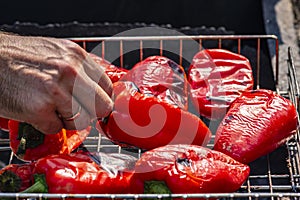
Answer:
POLYGON ((76 152, 41 158, 34 173, 45 175, 49 193, 124 194, 131 192, 135 162, 129 155, 76 152))

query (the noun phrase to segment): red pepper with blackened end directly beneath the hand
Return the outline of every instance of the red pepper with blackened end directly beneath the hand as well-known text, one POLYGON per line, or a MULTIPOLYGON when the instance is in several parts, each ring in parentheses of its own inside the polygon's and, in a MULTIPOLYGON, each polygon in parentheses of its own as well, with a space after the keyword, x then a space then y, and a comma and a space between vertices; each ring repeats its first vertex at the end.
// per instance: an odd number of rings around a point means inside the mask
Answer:
POLYGON ((49 154, 68 154, 89 135, 91 126, 84 130, 62 129, 56 134, 43 134, 30 124, 9 120, 10 147, 25 161, 37 160, 49 154))

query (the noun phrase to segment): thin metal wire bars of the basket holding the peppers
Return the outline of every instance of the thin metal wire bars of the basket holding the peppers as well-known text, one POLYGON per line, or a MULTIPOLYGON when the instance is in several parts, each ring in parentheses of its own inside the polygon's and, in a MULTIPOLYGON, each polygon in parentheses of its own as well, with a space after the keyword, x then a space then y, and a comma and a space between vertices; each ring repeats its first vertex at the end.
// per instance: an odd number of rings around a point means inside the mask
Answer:
MULTIPOLYGON (((126 61, 124 58, 125 45, 127 42, 136 42, 138 45, 138 59, 142 60, 145 58, 144 47, 146 42, 154 42, 158 44, 157 50, 159 55, 164 55, 164 45, 168 41, 174 41, 176 44, 179 44, 179 55, 178 60, 174 60, 180 65, 183 64, 184 57, 184 44, 186 41, 196 41, 198 43, 198 50, 203 49, 204 43, 206 41, 214 41, 215 48, 223 48, 224 42, 232 41, 236 44, 237 48, 235 49, 236 53, 243 54, 242 49, 245 41, 252 41, 255 44, 256 50, 256 67, 254 73, 256 74, 256 88, 261 88, 261 69, 264 67, 261 65, 261 43, 268 42, 273 43, 273 51, 275 52, 274 59, 272 60, 272 68, 274 70, 274 83, 275 90, 280 95, 289 98, 297 108, 298 119, 300 113, 300 102, 299 102, 299 85, 296 79, 295 66, 293 62, 292 49, 288 49, 287 55, 287 90, 282 91, 278 87, 279 80, 281 75, 279 72, 279 42, 278 38, 275 35, 196 35, 196 36, 118 36, 118 37, 79 37, 79 38, 68 38, 80 46, 82 46, 87 51, 90 51, 89 44, 100 45, 98 47, 98 55, 101 55, 103 58, 107 58, 108 43, 116 43, 118 49, 119 63, 120 67, 126 66, 126 61)), ((152 46, 151 46, 152 47, 152 46)), ((115 49, 115 48, 114 48, 115 49)), ((196 52, 195 52, 196 53, 196 52)), ((212 148, 214 136, 209 143, 208 147, 212 148)), ((16 193, 0 193, 0 198, 12 197, 15 199, 42 199, 42 198, 59 198, 65 199, 67 197, 72 198, 110 198, 110 199, 139 199, 139 198, 220 198, 220 199, 299 199, 300 194, 300 133, 299 129, 294 137, 292 137, 285 145, 278 148, 269 155, 264 156, 259 161, 251 163, 255 169, 257 169, 256 164, 262 164, 265 166, 266 170, 263 173, 252 171, 247 182, 235 193, 225 193, 225 194, 172 194, 170 195, 158 195, 158 194, 128 194, 128 195, 119 195, 119 194, 16 194, 16 193), (286 165, 286 173, 274 173, 273 159, 278 155, 282 155, 282 152, 286 153, 286 157, 282 157, 281 161, 283 166, 286 165), (284 160, 283 160, 284 159, 284 160), (259 180, 259 181, 258 181, 259 180), (261 183, 262 180, 262 183, 261 183), (257 181, 257 183, 256 183, 257 181), (278 182, 278 183, 277 183, 278 182), (282 184, 281 182, 284 182, 282 184)), ((0 152, 9 151, 9 140, 2 139, 0 140, 0 152)), ((140 157, 141 150, 136 152, 129 151, 128 149, 121 148, 115 144, 112 144, 109 139, 104 136, 98 136, 97 133, 91 134, 84 143, 85 147, 90 151, 99 151, 99 152, 118 152, 118 153, 129 153, 134 154, 136 157, 140 157)), ((11 154, 12 155, 12 154, 11 154)), ((7 164, 13 162, 13 155, 10 157, 10 160, 7 164)), ((250 167, 251 167, 250 164, 250 167)), ((259 167, 259 166, 258 166, 259 167)), ((276 171, 276 170, 275 170, 276 171)))

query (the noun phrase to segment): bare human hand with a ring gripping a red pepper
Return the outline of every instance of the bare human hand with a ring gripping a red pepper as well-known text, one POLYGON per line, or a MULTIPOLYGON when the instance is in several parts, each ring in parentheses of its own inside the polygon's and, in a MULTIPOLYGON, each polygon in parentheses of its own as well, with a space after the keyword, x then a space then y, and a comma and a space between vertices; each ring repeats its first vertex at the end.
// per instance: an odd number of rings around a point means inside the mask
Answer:
POLYGON ((83 129, 113 107, 112 83, 77 44, 0 33, 0 116, 43 133, 83 129))

